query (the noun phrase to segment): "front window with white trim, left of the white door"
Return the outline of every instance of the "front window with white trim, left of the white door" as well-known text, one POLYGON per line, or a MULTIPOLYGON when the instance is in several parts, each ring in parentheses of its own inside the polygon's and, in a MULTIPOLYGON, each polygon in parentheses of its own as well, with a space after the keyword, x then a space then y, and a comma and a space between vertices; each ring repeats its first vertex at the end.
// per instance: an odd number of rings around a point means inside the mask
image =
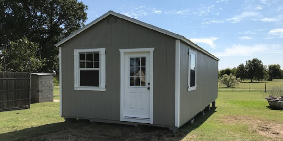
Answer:
POLYGON ((105 91, 105 48, 74 50, 75 90, 105 91))

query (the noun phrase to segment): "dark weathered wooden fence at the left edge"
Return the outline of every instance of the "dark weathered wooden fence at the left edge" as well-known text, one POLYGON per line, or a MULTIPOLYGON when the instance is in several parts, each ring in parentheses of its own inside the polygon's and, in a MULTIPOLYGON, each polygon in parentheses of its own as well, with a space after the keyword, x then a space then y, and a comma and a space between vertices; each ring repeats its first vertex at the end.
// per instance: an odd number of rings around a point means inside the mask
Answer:
POLYGON ((0 72, 0 111, 30 108, 28 72, 0 72))

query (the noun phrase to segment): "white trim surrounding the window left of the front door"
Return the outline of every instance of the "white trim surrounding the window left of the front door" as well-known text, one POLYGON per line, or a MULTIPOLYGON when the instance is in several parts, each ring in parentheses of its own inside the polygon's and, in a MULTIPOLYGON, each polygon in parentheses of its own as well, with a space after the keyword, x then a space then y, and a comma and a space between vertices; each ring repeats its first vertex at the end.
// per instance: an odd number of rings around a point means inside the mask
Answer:
POLYGON ((105 48, 74 50, 74 89, 86 91, 106 91, 105 48), (80 86, 80 52, 99 52, 99 87, 80 86))

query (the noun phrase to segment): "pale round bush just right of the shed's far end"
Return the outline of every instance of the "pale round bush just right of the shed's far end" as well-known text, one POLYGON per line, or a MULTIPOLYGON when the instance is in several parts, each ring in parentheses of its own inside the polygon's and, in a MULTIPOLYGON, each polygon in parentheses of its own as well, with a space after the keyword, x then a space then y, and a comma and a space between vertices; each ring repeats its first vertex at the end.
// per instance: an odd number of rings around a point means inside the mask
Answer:
POLYGON ((218 79, 218 81, 221 84, 226 85, 229 88, 229 87, 239 85, 239 83, 241 82, 241 79, 236 78, 236 76, 230 73, 229 76, 227 74, 224 74, 223 76, 221 76, 221 78, 218 79))

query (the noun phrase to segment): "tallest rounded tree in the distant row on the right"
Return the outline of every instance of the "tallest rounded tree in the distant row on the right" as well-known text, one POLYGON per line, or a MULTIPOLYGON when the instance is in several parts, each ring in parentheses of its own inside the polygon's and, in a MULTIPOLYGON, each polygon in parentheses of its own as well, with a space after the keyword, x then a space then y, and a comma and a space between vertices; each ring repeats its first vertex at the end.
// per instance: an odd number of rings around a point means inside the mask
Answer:
POLYGON ((247 78, 251 79, 251 82, 253 79, 262 79, 264 78, 264 65, 262 64, 262 61, 253 58, 252 60, 246 61, 246 74, 247 78))

